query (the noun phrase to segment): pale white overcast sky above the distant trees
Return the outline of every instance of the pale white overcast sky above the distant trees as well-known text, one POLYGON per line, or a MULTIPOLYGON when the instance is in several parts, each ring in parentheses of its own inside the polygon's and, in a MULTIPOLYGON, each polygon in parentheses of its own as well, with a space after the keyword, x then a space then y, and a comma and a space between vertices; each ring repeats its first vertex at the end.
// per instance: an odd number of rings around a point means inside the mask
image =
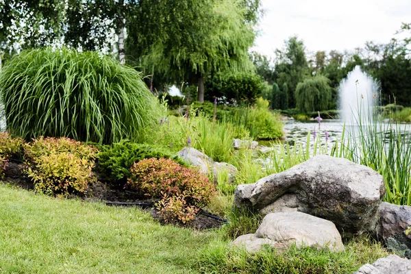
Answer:
POLYGON ((308 51, 389 42, 401 23, 411 23, 411 0, 262 0, 265 10, 254 49, 264 55, 297 34, 308 51))

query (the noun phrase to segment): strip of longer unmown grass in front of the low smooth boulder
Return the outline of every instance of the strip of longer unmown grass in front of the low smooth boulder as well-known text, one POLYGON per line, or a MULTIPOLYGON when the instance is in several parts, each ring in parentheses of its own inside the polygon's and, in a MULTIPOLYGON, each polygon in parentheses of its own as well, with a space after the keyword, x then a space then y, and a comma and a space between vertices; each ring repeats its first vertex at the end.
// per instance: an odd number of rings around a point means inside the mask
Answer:
POLYGON ((216 240, 201 251, 198 264, 202 273, 353 273, 362 264, 374 262, 388 253, 376 242, 361 238, 348 242, 345 251, 333 253, 327 249, 297 249, 285 253, 270 248, 256 253, 227 247, 216 240))

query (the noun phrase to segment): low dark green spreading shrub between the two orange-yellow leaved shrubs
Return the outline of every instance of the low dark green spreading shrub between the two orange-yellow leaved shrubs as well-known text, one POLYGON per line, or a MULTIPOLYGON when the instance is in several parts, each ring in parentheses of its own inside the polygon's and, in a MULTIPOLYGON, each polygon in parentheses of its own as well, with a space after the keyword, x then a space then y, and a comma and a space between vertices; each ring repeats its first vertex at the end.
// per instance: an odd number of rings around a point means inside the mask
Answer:
POLYGON ((162 147, 122 140, 99 153, 99 171, 103 179, 110 182, 112 186, 123 187, 131 175, 129 169, 134 162, 145 158, 171 158, 179 164, 185 164, 176 155, 162 147))

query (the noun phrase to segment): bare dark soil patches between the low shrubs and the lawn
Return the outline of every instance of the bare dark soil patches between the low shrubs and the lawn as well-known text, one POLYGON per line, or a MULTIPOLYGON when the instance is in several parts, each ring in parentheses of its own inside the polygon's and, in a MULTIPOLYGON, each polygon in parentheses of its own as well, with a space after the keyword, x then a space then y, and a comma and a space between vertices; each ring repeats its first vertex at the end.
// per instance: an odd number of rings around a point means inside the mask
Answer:
MULTIPOLYGON (((14 186, 19 186, 25 190, 34 190, 34 184, 31 179, 25 175, 22 171, 25 168, 25 165, 18 160, 10 160, 8 166, 5 169, 5 176, 1 179, 1 182, 5 184, 12 184, 14 186)), ((77 198, 79 196, 74 196, 77 198)), ((138 192, 124 190, 124 189, 110 189, 110 187, 103 183, 97 182, 92 184, 89 187, 88 191, 82 197, 85 201, 101 201, 103 203, 144 203, 145 206, 142 206, 145 210, 151 212, 151 216, 154 219, 163 223, 158 216, 158 211, 155 210, 155 200, 148 199, 144 195, 139 194, 138 192), (146 205, 147 204, 147 205, 146 205)), ((114 205, 116 206, 116 205, 114 205)), ((125 206, 125 205, 118 205, 125 206)), ((129 205, 132 206, 132 205, 129 205)), ((212 215, 210 212, 205 212, 206 214, 212 215)), ((217 216, 218 218, 218 216, 217 216)), ((209 216, 204 216, 203 214, 197 214, 194 220, 190 223, 184 225, 184 227, 191 227, 194 229, 211 229, 218 228, 223 225, 223 221, 211 218, 209 216)))

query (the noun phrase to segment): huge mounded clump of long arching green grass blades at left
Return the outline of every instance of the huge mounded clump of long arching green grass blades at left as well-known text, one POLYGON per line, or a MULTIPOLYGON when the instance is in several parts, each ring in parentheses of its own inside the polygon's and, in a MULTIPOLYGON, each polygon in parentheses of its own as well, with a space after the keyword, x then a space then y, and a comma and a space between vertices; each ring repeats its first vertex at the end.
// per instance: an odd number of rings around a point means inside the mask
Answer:
POLYGON ((15 55, 0 73, 0 92, 8 130, 25 140, 135 140, 161 110, 135 69, 71 49, 15 55))

